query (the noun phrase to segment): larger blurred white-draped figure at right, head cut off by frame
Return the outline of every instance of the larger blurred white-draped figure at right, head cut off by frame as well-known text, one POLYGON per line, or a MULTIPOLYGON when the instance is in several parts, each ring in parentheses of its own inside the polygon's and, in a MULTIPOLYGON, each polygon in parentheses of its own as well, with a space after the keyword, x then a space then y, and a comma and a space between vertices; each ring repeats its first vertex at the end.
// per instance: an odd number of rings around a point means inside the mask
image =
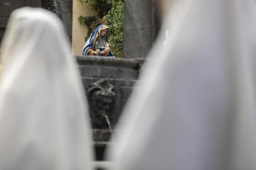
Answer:
POLYGON ((165 24, 171 39, 117 127, 115 169, 255 170, 255 0, 174 0, 165 24))

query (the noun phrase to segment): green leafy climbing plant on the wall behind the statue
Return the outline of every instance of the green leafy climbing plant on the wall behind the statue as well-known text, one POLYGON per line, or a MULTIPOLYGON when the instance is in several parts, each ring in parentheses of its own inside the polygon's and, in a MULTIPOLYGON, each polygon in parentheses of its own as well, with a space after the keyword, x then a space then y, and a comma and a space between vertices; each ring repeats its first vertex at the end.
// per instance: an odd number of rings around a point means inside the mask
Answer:
POLYGON ((85 41, 91 35, 93 21, 102 18, 109 26, 109 44, 115 57, 122 58, 123 55, 123 23, 124 23, 124 0, 79 0, 81 3, 87 3, 95 11, 97 16, 79 16, 80 24, 88 27, 88 34, 85 41))

